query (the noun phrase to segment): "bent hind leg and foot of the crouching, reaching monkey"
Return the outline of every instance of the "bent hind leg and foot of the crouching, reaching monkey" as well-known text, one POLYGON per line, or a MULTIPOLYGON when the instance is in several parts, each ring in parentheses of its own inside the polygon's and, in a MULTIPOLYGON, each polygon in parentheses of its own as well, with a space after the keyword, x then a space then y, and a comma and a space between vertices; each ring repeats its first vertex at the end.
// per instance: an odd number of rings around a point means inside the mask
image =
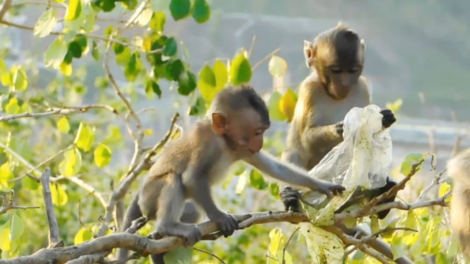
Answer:
POLYGON ((156 232, 161 236, 180 236, 186 239, 185 246, 192 246, 201 239, 201 231, 195 224, 180 222, 184 205, 184 186, 181 179, 173 177, 163 187, 158 199, 156 232))

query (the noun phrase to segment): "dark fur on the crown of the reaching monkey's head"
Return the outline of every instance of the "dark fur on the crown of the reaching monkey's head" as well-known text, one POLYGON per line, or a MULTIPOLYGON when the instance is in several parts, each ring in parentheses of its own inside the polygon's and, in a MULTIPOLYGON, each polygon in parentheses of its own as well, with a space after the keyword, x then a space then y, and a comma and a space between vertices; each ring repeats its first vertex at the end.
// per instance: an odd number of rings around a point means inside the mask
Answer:
POLYGON ((230 112, 251 108, 259 114, 264 125, 269 126, 269 110, 266 103, 258 95, 258 93, 247 84, 239 86, 230 85, 218 92, 214 97, 211 107, 209 107, 207 115, 213 113, 229 114, 230 112))

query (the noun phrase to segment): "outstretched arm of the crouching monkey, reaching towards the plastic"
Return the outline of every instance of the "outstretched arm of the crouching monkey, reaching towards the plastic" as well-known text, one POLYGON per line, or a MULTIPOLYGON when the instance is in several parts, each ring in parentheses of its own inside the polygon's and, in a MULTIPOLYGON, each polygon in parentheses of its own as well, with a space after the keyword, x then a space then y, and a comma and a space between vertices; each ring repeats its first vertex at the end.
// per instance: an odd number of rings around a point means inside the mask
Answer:
POLYGON ((345 190, 341 185, 310 177, 305 170, 295 167, 293 164, 281 162, 281 160, 269 155, 268 152, 260 151, 255 153, 245 158, 245 162, 252 164, 275 179, 295 186, 317 190, 326 194, 329 198, 345 190))

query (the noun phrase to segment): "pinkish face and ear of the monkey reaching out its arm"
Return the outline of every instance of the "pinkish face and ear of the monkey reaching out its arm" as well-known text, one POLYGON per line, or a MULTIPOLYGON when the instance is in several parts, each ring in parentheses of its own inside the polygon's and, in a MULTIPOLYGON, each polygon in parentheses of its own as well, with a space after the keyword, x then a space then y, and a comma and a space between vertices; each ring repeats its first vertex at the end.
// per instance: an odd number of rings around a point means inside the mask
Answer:
POLYGON ((231 148, 241 157, 247 157, 259 152, 263 147, 264 131, 268 126, 262 123, 262 118, 252 109, 235 112, 228 118, 225 132, 231 148))

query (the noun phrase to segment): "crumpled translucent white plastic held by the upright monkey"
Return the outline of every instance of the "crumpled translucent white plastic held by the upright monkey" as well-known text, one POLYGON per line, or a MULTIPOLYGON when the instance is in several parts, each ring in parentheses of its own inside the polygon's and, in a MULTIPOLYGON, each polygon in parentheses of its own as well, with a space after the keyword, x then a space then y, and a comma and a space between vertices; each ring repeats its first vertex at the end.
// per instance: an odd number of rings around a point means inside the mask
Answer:
POLYGON ((392 162, 392 138, 382 128, 380 107, 354 107, 344 117, 343 142, 336 145, 309 174, 353 190, 380 188, 392 162))

